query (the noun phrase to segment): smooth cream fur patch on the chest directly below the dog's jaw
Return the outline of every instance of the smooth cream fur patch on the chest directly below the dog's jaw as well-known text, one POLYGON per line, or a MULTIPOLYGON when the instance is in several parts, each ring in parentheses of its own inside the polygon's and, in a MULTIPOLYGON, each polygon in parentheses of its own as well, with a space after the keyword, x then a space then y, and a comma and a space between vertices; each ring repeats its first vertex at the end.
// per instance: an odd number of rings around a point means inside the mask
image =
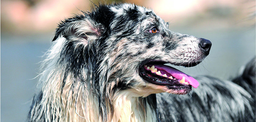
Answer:
MULTIPOLYGON (((146 99, 146 98, 144 98, 146 99)), ((129 91, 115 96, 112 122, 156 122, 156 112, 143 98, 133 97, 129 91)))

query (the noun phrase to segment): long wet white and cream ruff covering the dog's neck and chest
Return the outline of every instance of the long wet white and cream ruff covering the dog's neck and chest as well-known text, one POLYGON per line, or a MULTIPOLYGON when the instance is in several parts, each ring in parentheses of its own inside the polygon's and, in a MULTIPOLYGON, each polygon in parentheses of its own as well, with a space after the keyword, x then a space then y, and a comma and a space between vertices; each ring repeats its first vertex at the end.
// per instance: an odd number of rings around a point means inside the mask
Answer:
MULTIPOLYGON (((80 77, 67 73, 66 66, 59 65, 58 57, 63 48, 63 38, 46 53, 43 72, 40 74, 37 97, 29 112, 29 121, 46 122, 155 122, 156 108, 148 97, 134 97, 131 90, 116 90, 105 106, 99 104, 99 93, 94 89, 93 70, 82 68, 80 77), (53 77, 54 76, 54 77, 53 77), (107 118, 100 112, 106 112, 107 118)), ((90 66, 87 66, 90 67, 90 66)), ((106 93, 107 94, 107 93, 106 93)))

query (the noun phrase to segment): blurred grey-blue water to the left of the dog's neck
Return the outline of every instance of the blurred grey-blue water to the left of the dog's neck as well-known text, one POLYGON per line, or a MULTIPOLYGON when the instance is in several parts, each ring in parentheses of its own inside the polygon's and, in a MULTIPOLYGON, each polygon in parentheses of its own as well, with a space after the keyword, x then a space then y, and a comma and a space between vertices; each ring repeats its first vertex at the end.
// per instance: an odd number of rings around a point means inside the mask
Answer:
POLYGON ((1 121, 23 122, 35 92, 39 62, 49 36, 1 35, 1 121), (44 43, 42 43, 44 41, 44 43))

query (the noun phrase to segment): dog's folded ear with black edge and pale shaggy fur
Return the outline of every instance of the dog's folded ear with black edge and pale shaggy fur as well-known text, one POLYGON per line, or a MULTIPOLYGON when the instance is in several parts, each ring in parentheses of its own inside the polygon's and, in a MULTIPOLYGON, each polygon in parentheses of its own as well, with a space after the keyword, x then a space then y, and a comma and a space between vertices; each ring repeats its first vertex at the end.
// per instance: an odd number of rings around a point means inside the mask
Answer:
POLYGON ((55 31, 55 41, 59 36, 68 40, 93 41, 101 36, 104 27, 91 20, 88 16, 76 15, 73 18, 61 21, 55 31))

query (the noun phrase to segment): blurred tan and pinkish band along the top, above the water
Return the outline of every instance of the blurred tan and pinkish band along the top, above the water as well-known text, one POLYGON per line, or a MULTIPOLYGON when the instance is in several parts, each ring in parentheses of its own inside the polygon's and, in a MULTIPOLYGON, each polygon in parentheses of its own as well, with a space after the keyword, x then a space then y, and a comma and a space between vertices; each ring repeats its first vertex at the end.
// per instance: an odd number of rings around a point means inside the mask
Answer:
MULTIPOLYGON (((220 21, 223 25, 255 24, 254 0, 92 0, 95 4, 116 1, 152 8, 166 22, 175 24, 194 20, 193 24, 202 21, 201 16, 204 21, 220 21), (213 17, 217 19, 212 20, 213 17)), ((2 0, 1 31, 16 34, 53 32, 60 20, 81 13, 79 9, 90 10, 91 5, 89 0, 2 0)))

